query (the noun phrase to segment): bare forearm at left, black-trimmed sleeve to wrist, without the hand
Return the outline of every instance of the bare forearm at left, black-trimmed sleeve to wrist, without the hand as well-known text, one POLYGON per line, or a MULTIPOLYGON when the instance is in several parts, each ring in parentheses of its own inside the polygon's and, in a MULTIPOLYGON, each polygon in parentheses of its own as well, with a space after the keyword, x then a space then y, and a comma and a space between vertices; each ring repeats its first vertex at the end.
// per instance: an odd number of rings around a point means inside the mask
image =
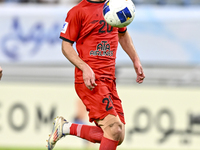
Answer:
POLYGON ((87 64, 78 56, 71 43, 62 42, 62 53, 63 55, 77 68, 84 70, 87 64))

